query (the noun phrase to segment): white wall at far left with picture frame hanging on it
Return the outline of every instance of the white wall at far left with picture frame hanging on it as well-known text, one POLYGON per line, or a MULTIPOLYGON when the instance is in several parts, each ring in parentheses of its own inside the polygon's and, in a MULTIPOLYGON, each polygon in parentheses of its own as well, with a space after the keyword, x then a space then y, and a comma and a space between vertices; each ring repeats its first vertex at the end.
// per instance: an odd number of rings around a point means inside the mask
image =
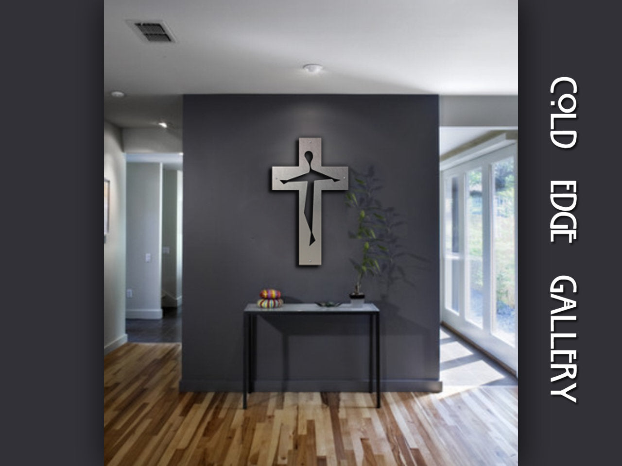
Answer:
POLYGON ((126 162, 121 130, 104 121, 104 178, 110 180, 110 230, 104 242, 104 355, 125 332, 126 162))

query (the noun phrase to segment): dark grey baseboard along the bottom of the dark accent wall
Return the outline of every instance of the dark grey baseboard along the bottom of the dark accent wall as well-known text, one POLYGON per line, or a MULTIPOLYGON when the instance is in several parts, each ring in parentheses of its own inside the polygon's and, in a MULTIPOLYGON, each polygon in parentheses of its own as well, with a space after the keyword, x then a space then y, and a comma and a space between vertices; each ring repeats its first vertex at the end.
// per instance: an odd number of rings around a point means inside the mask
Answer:
MULTIPOLYGON (((179 381, 179 391, 242 391, 241 380, 179 381)), ((381 380, 381 391, 425 391, 439 393, 440 380, 381 380)), ((254 391, 369 391, 368 380, 256 380, 254 391)), ((374 389, 375 390, 375 389, 374 389)))

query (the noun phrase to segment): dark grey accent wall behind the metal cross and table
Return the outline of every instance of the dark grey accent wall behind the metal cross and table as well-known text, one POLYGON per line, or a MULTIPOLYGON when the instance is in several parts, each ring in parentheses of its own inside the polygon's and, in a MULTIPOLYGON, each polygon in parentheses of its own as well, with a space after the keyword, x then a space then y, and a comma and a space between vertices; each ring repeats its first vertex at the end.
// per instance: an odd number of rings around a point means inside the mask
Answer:
MULTIPOLYGON (((324 165, 374 166, 379 198, 406 223, 414 286, 364 281, 381 309, 385 390, 440 390, 437 96, 188 95, 183 99, 183 391, 241 390, 242 310, 262 288, 285 300, 348 301, 358 247, 345 192, 323 194, 319 267, 299 267, 297 194, 271 191, 322 137, 324 165)), ((258 322, 258 390, 366 390, 366 318, 258 322), (284 380, 284 381, 282 381, 284 380)))

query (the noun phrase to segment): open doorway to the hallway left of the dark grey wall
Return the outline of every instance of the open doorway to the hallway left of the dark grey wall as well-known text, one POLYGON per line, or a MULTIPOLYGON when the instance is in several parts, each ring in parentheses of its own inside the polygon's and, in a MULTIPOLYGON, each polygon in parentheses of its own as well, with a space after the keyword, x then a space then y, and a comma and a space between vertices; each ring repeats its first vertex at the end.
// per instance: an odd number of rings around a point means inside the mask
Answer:
POLYGON ((181 342, 183 170, 175 156, 126 156, 130 342, 181 342))

